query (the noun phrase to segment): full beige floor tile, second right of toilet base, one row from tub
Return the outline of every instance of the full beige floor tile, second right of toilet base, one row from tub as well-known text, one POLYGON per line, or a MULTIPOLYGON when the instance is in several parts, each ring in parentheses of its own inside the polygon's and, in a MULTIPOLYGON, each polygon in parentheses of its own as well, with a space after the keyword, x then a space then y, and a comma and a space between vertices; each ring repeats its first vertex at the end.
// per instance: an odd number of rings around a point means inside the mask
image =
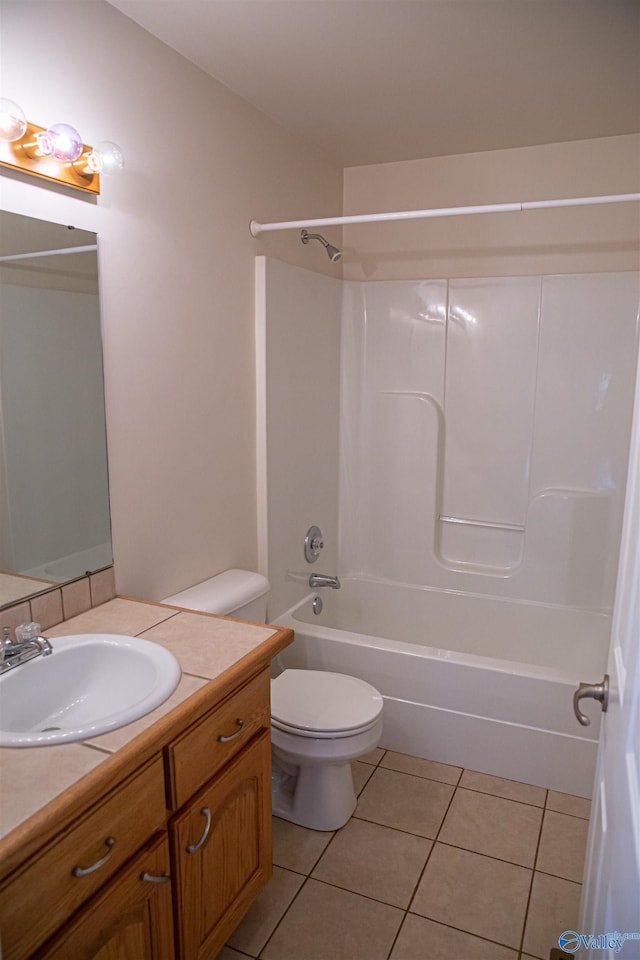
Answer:
POLYGON ((458 788, 438 840, 533 867, 541 821, 539 807, 458 788))

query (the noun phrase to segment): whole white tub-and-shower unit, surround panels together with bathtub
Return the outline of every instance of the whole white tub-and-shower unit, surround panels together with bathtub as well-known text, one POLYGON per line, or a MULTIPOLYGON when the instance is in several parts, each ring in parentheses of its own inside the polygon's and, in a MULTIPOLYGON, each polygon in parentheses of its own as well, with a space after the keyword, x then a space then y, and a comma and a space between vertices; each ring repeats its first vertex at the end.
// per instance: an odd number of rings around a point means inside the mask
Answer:
POLYGON ((606 664, 638 273, 342 282, 262 260, 256 279, 283 664, 377 687, 385 747, 589 796, 599 711, 581 728, 572 695, 606 664), (342 582, 320 617, 316 570, 342 582))

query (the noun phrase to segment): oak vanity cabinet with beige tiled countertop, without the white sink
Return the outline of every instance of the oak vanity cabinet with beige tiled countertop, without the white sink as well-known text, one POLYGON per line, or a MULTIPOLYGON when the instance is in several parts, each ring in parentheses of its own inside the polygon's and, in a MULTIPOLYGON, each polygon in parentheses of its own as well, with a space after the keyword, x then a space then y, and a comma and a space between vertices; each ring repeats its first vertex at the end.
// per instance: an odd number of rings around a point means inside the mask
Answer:
POLYGON ((271 875, 269 665, 293 634, 116 598, 47 631, 54 655, 80 631, 155 640, 182 679, 90 742, 0 750, 3 960, 214 960, 271 875))

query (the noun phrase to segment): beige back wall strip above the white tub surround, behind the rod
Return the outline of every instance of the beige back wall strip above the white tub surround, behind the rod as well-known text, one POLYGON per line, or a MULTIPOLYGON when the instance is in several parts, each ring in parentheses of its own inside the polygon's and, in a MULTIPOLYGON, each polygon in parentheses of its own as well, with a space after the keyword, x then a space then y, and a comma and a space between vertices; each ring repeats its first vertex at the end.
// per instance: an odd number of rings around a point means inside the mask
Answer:
MULTIPOLYGON (((435 134, 434 134, 435 135, 435 134)), ((344 171, 344 214, 640 192, 640 136, 344 171)), ((343 228, 347 279, 635 270, 638 204, 343 228)))

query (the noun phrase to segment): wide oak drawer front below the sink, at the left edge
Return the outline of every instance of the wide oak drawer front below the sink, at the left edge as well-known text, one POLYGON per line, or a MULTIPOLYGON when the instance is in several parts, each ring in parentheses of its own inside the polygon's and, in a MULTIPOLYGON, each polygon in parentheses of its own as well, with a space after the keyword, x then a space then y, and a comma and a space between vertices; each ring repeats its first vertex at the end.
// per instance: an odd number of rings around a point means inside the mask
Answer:
POLYGON ((7 879, 0 888, 4 960, 29 957, 165 827, 164 796, 162 758, 157 757, 7 879), (88 872, 75 876, 77 868, 88 872))

